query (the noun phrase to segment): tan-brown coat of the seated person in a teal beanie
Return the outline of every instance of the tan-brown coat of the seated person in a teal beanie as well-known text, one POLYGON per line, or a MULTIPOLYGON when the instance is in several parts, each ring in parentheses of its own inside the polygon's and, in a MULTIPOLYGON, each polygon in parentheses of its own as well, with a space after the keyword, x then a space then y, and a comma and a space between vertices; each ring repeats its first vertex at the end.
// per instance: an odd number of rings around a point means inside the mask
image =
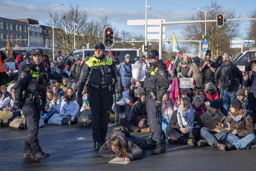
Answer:
POLYGON ((223 123, 225 118, 226 116, 222 114, 220 110, 217 110, 217 113, 213 117, 209 109, 203 115, 200 116, 200 119, 202 120, 204 127, 210 129, 211 131, 220 130, 221 123, 223 123))

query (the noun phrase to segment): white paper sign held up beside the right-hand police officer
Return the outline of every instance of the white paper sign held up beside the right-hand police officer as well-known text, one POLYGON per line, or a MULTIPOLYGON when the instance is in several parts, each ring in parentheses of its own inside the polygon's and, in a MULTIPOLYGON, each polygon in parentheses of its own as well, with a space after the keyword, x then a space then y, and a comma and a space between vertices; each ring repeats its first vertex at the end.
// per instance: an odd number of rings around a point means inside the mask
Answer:
POLYGON ((146 78, 144 62, 132 64, 132 77, 137 81, 144 81, 146 78))

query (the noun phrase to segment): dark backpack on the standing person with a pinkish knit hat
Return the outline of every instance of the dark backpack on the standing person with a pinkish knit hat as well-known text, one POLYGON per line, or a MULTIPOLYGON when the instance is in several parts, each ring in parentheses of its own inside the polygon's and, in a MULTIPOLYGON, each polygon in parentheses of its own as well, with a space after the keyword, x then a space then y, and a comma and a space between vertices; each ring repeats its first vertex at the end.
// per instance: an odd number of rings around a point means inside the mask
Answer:
POLYGON ((230 91, 234 85, 234 78, 233 78, 233 72, 232 72, 232 65, 229 66, 223 66, 222 68, 222 80, 221 80, 221 86, 223 89, 230 91))

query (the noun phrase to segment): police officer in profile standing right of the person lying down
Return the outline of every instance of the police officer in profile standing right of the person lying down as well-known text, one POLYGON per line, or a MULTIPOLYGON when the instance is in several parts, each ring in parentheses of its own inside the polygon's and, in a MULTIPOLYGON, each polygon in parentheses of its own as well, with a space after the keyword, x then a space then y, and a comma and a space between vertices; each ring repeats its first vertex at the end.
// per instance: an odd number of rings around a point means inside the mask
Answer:
POLYGON ((161 129, 159 118, 160 108, 162 106, 162 98, 169 87, 167 77, 167 67, 165 63, 159 60, 159 53, 157 50, 151 50, 148 54, 150 61, 150 69, 145 78, 146 91, 146 110, 147 120, 152 132, 152 142, 156 142, 157 147, 152 150, 152 154, 161 154, 165 150, 165 135, 161 129))

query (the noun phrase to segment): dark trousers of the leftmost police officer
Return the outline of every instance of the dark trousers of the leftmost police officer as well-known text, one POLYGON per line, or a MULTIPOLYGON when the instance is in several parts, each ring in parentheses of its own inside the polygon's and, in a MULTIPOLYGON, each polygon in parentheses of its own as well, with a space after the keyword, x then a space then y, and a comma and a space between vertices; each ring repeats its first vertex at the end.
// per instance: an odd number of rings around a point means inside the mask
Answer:
POLYGON ((37 139, 39 119, 41 115, 40 101, 34 103, 32 98, 24 99, 21 103, 22 113, 25 116, 27 132, 25 135, 24 153, 36 154, 42 151, 37 139))

